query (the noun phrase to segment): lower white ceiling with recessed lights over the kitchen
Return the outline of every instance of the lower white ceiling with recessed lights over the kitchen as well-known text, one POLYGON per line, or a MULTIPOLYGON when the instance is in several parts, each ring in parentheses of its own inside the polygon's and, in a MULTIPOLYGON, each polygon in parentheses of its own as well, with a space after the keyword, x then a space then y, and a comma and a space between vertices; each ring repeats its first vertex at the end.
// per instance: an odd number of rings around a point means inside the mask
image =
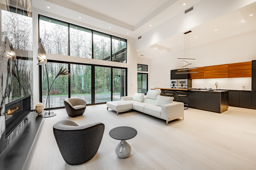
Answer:
MULTIPOLYGON (((256 3, 215 18, 190 30, 192 31, 189 33, 190 48, 208 44, 224 38, 234 37, 251 31, 256 31, 256 3), (254 15, 249 16, 250 14, 254 15), (217 31, 215 31, 216 29, 217 31)), ((160 54, 161 50, 145 48, 138 51, 137 56, 145 58, 148 58, 148 56, 150 56, 150 58, 158 58, 169 55, 174 51, 184 50, 184 34, 180 33, 156 44, 158 46, 169 48, 170 52, 163 51, 160 54)))

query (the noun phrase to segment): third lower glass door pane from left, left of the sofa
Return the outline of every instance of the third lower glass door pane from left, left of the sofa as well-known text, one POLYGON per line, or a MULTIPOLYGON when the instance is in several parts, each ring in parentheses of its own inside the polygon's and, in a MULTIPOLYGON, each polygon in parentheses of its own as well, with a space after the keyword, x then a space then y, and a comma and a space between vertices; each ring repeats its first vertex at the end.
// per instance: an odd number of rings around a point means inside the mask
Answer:
POLYGON ((95 103, 111 101, 111 68, 95 66, 95 103))

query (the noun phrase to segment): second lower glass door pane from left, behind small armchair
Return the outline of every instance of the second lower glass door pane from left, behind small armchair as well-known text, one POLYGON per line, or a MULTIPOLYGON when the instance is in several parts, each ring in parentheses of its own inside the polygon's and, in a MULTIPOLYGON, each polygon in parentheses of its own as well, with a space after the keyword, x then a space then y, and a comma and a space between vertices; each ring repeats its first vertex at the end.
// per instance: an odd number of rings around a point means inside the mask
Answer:
POLYGON ((70 64, 70 97, 91 104, 91 66, 70 64))

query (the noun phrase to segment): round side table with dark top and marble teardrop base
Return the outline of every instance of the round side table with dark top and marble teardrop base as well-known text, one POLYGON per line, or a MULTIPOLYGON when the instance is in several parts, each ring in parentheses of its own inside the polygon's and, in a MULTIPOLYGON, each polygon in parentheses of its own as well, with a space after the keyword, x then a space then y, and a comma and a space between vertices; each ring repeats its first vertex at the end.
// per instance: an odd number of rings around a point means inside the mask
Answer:
POLYGON ((115 153, 118 157, 126 158, 131 154, 132 148, 130 144, 126 142, 126 140, 132 139, 136 135, 137 130, 128 126, 120 126, 109 131, 110 137, 113 139, 121 140, 115 148, 115 153))

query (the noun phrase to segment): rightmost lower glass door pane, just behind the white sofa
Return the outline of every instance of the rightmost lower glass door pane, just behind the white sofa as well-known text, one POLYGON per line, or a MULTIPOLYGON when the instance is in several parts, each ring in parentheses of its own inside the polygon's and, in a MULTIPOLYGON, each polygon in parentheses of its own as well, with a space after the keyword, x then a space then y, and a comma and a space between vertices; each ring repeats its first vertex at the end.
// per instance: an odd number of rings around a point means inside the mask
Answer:
POLYGON ((126 69, 113 68, 113 101, 126 96, 126 69))

